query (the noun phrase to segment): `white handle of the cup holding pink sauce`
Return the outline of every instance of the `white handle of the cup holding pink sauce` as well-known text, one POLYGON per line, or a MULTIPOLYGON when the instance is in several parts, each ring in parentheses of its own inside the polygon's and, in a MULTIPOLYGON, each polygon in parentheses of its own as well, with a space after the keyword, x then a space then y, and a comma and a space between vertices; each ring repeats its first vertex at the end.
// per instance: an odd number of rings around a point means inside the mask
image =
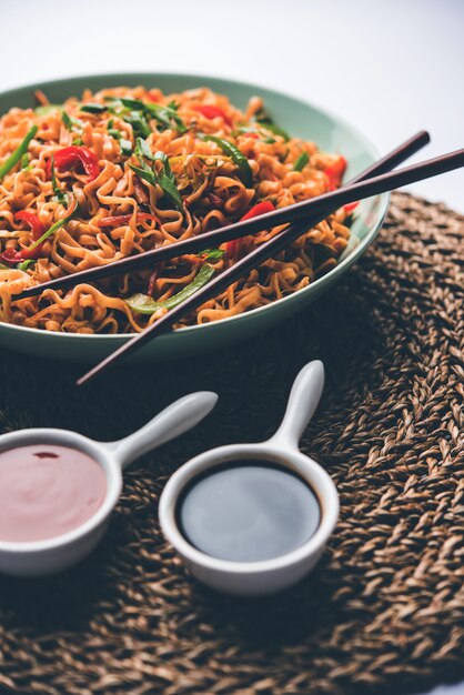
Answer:
POLYGON ((143 427, 117 442, 100 442, 122 469, 155 446, 188 432, 208 415, 218 402, 212 391, 198 391, 174 401, 143 427))

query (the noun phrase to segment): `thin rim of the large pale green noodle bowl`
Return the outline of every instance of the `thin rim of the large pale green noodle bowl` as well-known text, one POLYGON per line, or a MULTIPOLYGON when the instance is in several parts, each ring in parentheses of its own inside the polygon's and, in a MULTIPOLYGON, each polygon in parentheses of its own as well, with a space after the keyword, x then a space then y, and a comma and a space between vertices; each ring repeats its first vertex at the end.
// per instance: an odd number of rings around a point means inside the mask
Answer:
MULTIPOLYGON (((201 87, 201 81, 203 80, 206 83, 211 81, 216 81, 216 82, 226 83, 236 88, 246 87, 249 89, 256 90, 258 93, 260 92, 260 90, 265 91, 268 93, 274 94, 276 98, 284 97, 285 99, 290 99, 290 100, 300 102, 303 105, 310 107, 314 111, 317 111, 322 117, 325 117, 331 121, 340 123, 347 130, 352 131, 356 135, 356 138, 360 141, 362 141, 365 150, 369 153, 371 153, 375 159, 379 159, 380 157, 380 153, 376 147, 373 145, 371 141, 357 128, 353 127, 344 118, 336 115, 329 109, 321 108, 317 103, 314 103, 312 101, 306 101, 304 98, 289 93, 285 90, 274 89, 272 87, 268 87, 266 84, 256 84, 255 82, 248 82, 245 80, 223 78, 221 75, 215 75, 215 74, 206 75, 206 74, 198 74, 194 72, 189 73, 189 72, 170 72, 170 71, 90 73, 90 74, 72 75, 68 78, 57 78, 57 79, 46 80, 41 82, 21 84, 20 87, 1 91, 0 98, 4 98, 4 97, 8 98, 9 95, 14 97, 18 92, 23 92, 24 90, 30 90, 31 93, 33 93, 34 90, 38 90, 38 89, 43 90, 50 85, 65 85, 65 84, 72 85, 73 83, 80 83, 83 80, 95 80, 95 79, 105 80, 105 79, 114 79, 114 78, 121 78, 121 80, 125 78, 130 80, 134 78, 141 79, 141 80, 143 79, 153 80, 157 78, 163 78, 163 79, 172 78, 172 79, 180 79, 180 80, 194 79, 199 81, 200 87, 201 87)), ((10 108, 13 108, 13 107, 10 107, 10 108)), ((304 296, 305 294, 307 294, 309 291, 314 292, 314 288, 321 288, 324 284, 330 283, 331 279, 337 272, 343 273, 357 261, 357 259, 364 253, 365 249, 374 241, 379 231, 382 229, 382 225, 385 221, 385 218, 389 211, 391 193, 382 193, 380 195, 375 195, 373 197, 372 200, 379 201, 379 209, 375 210, 373 213, 374 219, 369 224, 369 231, 366 235, 364 236, 364 239, 359 241, 359 243, 356 243, 353 246, 353 249, 351 249, 349 254, 340 263, 337 263, 333 269, 331 269, 326 274, 322 275, 321 278, 317 278, 305 288, 302 288, 301 290, 297 290, 296 292, 293 292, 292 294, 288 294, 286 296, 283 296, 281 299, 274 300, 270 302, 269 304, 264 304, 263 306, 258 306, 244 313, 236 314, 234 316, 226 316, 225 319, 220 319, 219 321, 212 321, 210 323, 201 323, 201 324, 195 324, 195 325, 183 326, 181 329, 173 329, 170 333, 160 335, 159 340, 160 341, 170 340, 170 336, 172 334, 175 334, 178 336, 184 334, 184 338, 186 339, 189 334, 191 334, 192 332, 198 332, 200 330, 202 330, 203 333, 206 333, 208 330, 210 331, 216 330, 216 328, 220 325, 230 324, 236 321, 242 321, 243 323, 245 320, 250 320, 250 318, 252 316, 262 314, 264 311, 270 311, 275 306, 283 306, 285 305, 285 303, 294 302, 295 298, 304 296)), ((131 340, 134 335, 139 334, 139 333, 64 333, 64 332, 58 332, 58 331, 57 332, 47 331, 44 329, 36 329, 36 328, 29 328, 29 326, 23 326, 23 325, 17 325, 17 324, 6 323, 6 322, 0 322, 0 331, 7 332, 7 333, 19 333, 19 334, 24 333, 26 335, 36 334, 36 335, 47 336, 50 340, 53 340, 56 336, 60 336, 61 341, 63 341, 64 339, 75 341, 75 339, 78 339, 81 341, 85 341, 85 340, 92 340, 93 342, 99 341, 100 343, 109 343, 111 341, 127 342, 131 340)))

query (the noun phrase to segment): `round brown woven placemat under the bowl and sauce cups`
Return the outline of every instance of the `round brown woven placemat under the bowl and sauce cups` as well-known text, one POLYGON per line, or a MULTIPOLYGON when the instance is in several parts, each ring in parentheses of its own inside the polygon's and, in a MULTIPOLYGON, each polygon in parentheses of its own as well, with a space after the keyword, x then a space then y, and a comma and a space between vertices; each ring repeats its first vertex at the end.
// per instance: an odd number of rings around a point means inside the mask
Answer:
POLYGON ((109 440, 193 390, 220 403, 127 472, 108 535, 80 566, 0 578, 0 692, 359 695, 464 676, 463 250, 462 216, 395 194, 342 282, 248 343, 125 369, 84 392, 73 387, 82 366, 1 351, 3 432, 109 440), (336 532, 293 590, 214 594, 162 540, 160 492, 204 449, 269 436, 314 357, 327 383, 303 450, 339 486, 336 532))

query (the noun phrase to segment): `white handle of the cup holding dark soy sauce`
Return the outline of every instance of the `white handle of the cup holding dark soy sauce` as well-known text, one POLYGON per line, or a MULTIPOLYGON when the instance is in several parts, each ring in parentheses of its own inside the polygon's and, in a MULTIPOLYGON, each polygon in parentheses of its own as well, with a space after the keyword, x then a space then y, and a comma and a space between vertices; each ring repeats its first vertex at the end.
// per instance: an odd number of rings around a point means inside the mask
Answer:
POLYGON ((297 449, 301 435, 321 400, 323 387, 323 363, 320 360, 309 362, 293 382, 282 424, 269 442, 280 447, 297 449))

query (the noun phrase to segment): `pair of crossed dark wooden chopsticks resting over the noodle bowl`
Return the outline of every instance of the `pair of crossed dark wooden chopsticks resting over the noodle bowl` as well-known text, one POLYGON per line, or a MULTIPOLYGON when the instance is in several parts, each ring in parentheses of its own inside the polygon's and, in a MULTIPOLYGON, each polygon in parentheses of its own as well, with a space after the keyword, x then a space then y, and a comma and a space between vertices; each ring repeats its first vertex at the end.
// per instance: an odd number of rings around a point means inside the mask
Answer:
POLYGON ((371 198, 372 195, 377 195, 395 188, 407 185, 430 177, 435 177, 464 165, 464 150, 458 150, 456 152, 427 160, 420 164, 414 164, 413 167, 402 169, 397 172, 390 172, 391 169, 414 154, 417 150, 427 144, 428 141, 428 133, 424 131, 417 133, 414 138, 411 138, 411 140, 407 140, 396 150, 362 172, 350 184, 339 189, 337 191, 325 193, 319 198, 269 212, 259 218, 252 218, 235 224, 230 224, 220 230, 201 234, 200 236, 186 239, 168 246, 161 246, 160 249, 145 252, 138 256, 122 259, 105 266, 73 273, 67 278, 60 278, 41 285, 36 285, 34 288, 30 288, 22 292, 16 298, 16 300, 39 294, 49 288, 63 289, 79 282, 89 282, 91 280, 101 279, 121 271, 127 272, 128 270, 133 270, 134 268, 152 264, 167 259, 178 258, 182 254, 198 253, 212 245, 231 241, 232 239, 239 239, 240 236, 253 234, 280 224, 291 223, 274 238, 256 246, 244 259, 238 261, 234 265, 223 271, 195 294, 171 311, 167 312, 161 319, 159 319, 159 321, 147 328, 142 333, 135 335, 108 357, 102 360, 78 380, 78 385, 82 385, 93 379, 97 374, 101 373, 104 369, 113 366, 122 357, 127 357, 149 341, 155 339, 161 333, 167 332, 172 324, 179 321, 184 314, 221 293, 232 282, 243 276, 251 269, 259 266, 266 259, 279 253, 282 249, 291 244, 295 239, 307 231, 307 229, 319 224, 342 205, 346 205, 365 198, 371 198))

